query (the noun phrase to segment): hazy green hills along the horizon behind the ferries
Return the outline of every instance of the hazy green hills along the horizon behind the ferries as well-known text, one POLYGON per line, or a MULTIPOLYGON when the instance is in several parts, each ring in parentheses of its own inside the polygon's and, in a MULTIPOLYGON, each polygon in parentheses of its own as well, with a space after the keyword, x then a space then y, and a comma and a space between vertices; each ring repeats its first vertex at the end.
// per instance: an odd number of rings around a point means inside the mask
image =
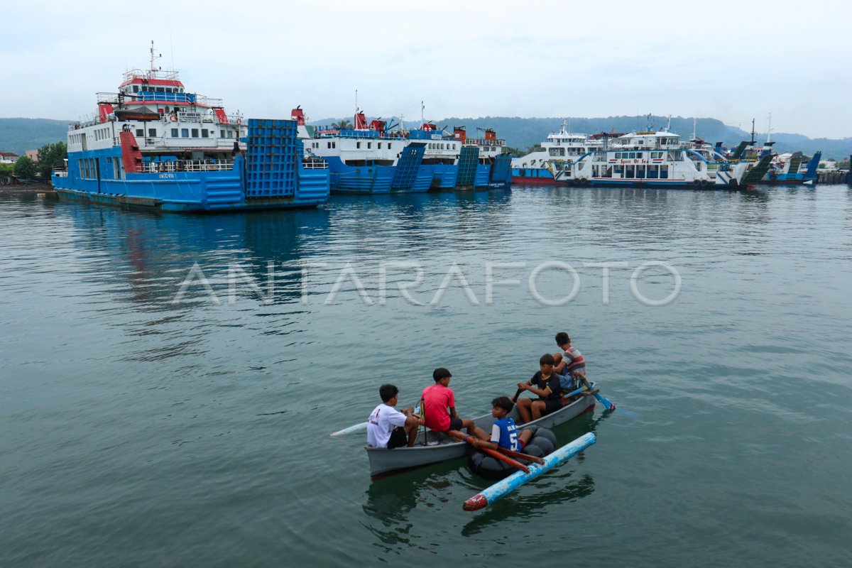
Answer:
MULTIPOLYGON (((351 120, 351 118, 348 118, 351 120)), ((312 124, 336 123, 339 118, 312 120, 312 124)), ((607 117, 607 118, 567 118, 568 129, 572 132, 596 134, 599 132, 630 132, 643 130, 648 126, 647 117, 607 117)), ((654 127, 663 127, 669 118, 652 117, 654 127)), ((20 156, 27 150, 37 150, 45 144, 65 141, 68 123, 71 120, 50 120, 48 118, 0 118, 0 152, 14 152, 20 156)), ((491 128, 497 131, 498 138, 515 148, 526 150, 547 138, 548 133, 561 128, 562 118, 445 118, 436 121, 439 126, 451 129, 464 126, 468 135, 481 135, 477 128, 491 128)), ((391 121, 393 123, 393 121, 391 121)), ((406 120, 406 128, 418 126, 417 122, 406 120)), ((671 118, 671 131, 687 138, 693 133, 692 118, 671 118)), ((695 123, 695 133, 705 141, 724 142, 726 146, 735 146, 740 141, 750 140, 751 135, 743 129, 728 126, 715 118, 699 118, 695 123)), ((766 134, 758 133, 758 141, 765 141, 766 134)), ((813 154, 822 151, 823 158, 843 159, 852 154, 852 137, 840 140, 828 138, 808 138, 797 134, 772 133, 775 149, 778 152, 797 152, 813 154)))

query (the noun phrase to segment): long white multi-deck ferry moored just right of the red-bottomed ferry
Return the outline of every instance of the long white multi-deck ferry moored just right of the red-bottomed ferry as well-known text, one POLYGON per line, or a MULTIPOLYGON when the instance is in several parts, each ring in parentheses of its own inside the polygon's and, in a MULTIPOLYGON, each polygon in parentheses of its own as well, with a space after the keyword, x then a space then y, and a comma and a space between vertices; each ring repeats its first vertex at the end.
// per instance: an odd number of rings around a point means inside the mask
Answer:
POLYGON ((605 135, 602 146, 579 158, 550 161, 556 181, 574 186, 740 187, 760 181, 771 159, 730 162, 694 141, 682 143, 667 129, 612 136, 605 135))

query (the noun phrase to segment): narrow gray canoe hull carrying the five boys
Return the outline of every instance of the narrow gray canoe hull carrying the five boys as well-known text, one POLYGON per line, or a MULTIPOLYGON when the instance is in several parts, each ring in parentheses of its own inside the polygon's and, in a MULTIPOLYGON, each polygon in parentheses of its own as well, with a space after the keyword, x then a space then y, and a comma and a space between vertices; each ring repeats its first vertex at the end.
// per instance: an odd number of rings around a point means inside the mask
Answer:
MULTIPOLYGON (((594 386, 594 383, 592 385, 594 386)), ((518 422, 519 431, 530 426, 550 428, 567 422, 573 417, 583 414, 586 410, 591 410, 594 406, 595 397, 581 396, 571 404, 566 404, 560 410, 526 424, 521 424, 521 417, 518 415, 516 406, 509 413, 509 416, 515 422, 518 422)), ((489 412, 486 415, 477 416, 474 418, 474 422, 476 426, 481 427, 487 433, 491 433, 494 418, 489 412)), ((429 463, 444 462, 462 457, 468 452, 469 447, 470 445, 467 442, 458 442, 445 434, 432 432, 428 429, 425 433, 421 429, 420 433, 417 434, 417 441, 411 448, 403 447, 389 450, 388 448, 365 446, 367 456, 370 458, 370 475, 372 477, 394 471, 394 469, 418 468, 429 463), (426 437, 425 444, 424 434, 426 437)))

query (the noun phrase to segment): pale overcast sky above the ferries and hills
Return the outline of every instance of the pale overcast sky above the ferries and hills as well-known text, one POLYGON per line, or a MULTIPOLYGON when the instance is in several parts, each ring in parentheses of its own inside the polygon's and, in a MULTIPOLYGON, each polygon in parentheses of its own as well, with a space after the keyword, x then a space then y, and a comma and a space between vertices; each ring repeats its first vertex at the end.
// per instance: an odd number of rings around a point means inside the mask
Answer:
POLYGON ((247 118, 717 118, 852 136, 852 8, 830 2, 4 2, 0 117, 76 120, 176 69, 247 118))

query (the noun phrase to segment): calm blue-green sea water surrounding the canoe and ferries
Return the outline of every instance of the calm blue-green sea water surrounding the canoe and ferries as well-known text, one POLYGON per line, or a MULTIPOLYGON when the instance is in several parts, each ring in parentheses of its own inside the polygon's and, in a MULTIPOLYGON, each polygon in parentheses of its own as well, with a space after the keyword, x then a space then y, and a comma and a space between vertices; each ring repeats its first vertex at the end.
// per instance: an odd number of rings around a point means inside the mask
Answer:
POLYGON ((847 186, 2 196, 0 243, 0 565, 852 565, 847 186), (371 482, 363 434, 328 436, 437 366, 485 413, 559 330, 627 411, 484 511, 463 460, 371 482))

